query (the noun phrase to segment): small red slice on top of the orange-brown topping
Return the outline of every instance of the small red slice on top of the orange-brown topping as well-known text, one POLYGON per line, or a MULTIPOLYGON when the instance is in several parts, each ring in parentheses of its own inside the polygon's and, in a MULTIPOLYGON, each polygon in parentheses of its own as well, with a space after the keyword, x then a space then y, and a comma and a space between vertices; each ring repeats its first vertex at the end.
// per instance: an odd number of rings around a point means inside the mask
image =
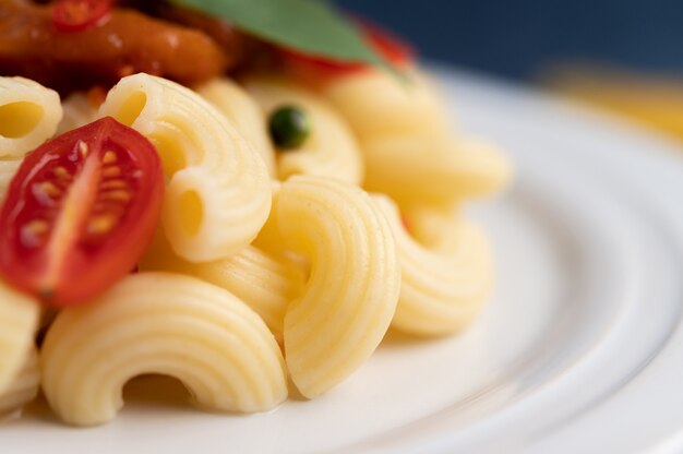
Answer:
POLYGON ((107 20, 115 0, 58 0, 52 24, 60 32, 81 32, 107 20))

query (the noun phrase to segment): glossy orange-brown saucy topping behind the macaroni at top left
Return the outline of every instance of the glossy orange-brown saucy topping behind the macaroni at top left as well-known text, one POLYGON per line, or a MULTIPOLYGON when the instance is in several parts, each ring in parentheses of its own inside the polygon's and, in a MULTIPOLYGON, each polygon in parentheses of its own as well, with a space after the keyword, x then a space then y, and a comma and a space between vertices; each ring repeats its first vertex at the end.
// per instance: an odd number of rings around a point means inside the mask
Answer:
POLYGON ((238 64, 238 34, 217 43, 199 28, 117 8, 104 24, 58 32, 49 5, 0 0, 0 74, 67 93, 146 72, 191 85, 238 64))

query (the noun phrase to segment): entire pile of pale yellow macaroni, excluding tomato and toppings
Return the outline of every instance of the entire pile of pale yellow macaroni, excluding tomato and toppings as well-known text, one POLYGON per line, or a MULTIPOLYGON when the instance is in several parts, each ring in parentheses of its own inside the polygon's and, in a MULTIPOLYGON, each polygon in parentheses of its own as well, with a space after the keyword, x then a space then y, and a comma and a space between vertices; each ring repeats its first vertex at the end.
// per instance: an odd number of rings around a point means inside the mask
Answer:
POLYGON ((500 191, 511 170, 493 145, 451 132, 432 82, 409 74, 405 86, 359 71, 305 88, 247 74, 195 91, 135 74, 99 109, 0 77, 0 191, 58 123, 101 116, 145 135, 167 179, 140 272, 46 316, 37 353, 38 304, 0 283, 0 414, 40 385, 63 421, 104 423, 145 373, 179 379, 200 407, 264 411, 287 398, 288 377, 307 398, 333 389, 390 326, 466 326, 494 266, 457 208, 500 191), (311 135, 280 151, 266 123, 285 105, 304 110, 311 135))

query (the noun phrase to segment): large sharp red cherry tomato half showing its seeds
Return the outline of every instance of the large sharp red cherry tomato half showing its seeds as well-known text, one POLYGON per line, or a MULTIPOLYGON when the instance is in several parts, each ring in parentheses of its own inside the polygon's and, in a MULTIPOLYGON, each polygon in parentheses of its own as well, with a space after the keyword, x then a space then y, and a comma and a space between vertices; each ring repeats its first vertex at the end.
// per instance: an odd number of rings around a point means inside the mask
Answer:
POLYGON ((52 306, 87 301, 130 273, 164 198, 154 146, 103 118, 28 154, 0 211, 0 274, 52 306))

